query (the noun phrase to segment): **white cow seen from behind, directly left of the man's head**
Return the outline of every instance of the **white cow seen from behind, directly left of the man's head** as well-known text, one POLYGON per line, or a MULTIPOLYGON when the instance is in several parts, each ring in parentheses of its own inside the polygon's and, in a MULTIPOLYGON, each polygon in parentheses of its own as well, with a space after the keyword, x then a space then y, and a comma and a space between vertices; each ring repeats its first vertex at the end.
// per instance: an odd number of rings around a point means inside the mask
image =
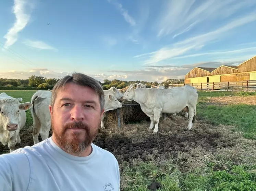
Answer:
POLYGON ((51 91, 48 90, 39 90, 32 96, 31 103, 33 107, 30 111, 33 117, 32 134, 34 144, 39 143, 39 133, 43 141, 49 137, 51 129, 50 100, 51 91))

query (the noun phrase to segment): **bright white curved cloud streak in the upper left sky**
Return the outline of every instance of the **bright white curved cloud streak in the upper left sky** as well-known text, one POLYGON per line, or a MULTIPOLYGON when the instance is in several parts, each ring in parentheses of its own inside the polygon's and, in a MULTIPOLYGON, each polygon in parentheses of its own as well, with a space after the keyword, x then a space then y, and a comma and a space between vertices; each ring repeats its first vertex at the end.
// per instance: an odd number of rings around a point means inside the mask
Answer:
POLYGON ((6 39, 4 48, 8 49, 17 41, 18 33, 28 24, 33 8, 34 4, 28 0, 14 0, 12 12, 15 14, 16 20, 12 28, 3 37, 6 39))

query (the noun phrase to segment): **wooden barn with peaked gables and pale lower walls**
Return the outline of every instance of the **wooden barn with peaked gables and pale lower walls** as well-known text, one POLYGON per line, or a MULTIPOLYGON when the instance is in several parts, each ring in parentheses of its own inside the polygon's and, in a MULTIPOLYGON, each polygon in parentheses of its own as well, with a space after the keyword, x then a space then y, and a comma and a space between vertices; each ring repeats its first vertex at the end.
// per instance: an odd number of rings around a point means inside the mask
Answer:
POLYGON ((256 56, 237 65, 218 68, 195 67, 185 75, 185 84, 211 82, 242 82, 256 80, 256 56))

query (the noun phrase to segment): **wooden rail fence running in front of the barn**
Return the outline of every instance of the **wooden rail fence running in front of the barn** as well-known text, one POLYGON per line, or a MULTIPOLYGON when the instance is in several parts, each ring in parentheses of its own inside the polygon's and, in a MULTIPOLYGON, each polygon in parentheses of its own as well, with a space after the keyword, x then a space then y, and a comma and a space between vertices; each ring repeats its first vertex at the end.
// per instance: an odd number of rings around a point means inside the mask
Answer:
POLYGON ((219 90, 219 91, 256 91, 256 80, 243 80, 242 82, 210 82, 210 83, 190 83, 190 84, 169 84, 168 88, 193 86, 199 90, 219 90))

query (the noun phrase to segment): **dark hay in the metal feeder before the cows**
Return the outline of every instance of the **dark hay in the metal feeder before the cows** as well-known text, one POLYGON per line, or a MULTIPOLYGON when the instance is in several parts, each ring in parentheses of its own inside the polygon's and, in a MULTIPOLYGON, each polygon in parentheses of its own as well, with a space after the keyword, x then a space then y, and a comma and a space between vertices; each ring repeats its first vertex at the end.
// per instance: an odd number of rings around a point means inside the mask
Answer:
MULTIPOLYGON (((137 123, 143 120, 150 121, 149 117, 141 110, 140 105, 135 101, 121 101, 123 107, 120 109, 120 124, 121 126, 128 123, 137 123), (126 104, 130 104, 126 105, 126 104)), ((106 112, 104 118, 104 125, 106 129, 118 126, 118 113, 117 109, 106 112)))

